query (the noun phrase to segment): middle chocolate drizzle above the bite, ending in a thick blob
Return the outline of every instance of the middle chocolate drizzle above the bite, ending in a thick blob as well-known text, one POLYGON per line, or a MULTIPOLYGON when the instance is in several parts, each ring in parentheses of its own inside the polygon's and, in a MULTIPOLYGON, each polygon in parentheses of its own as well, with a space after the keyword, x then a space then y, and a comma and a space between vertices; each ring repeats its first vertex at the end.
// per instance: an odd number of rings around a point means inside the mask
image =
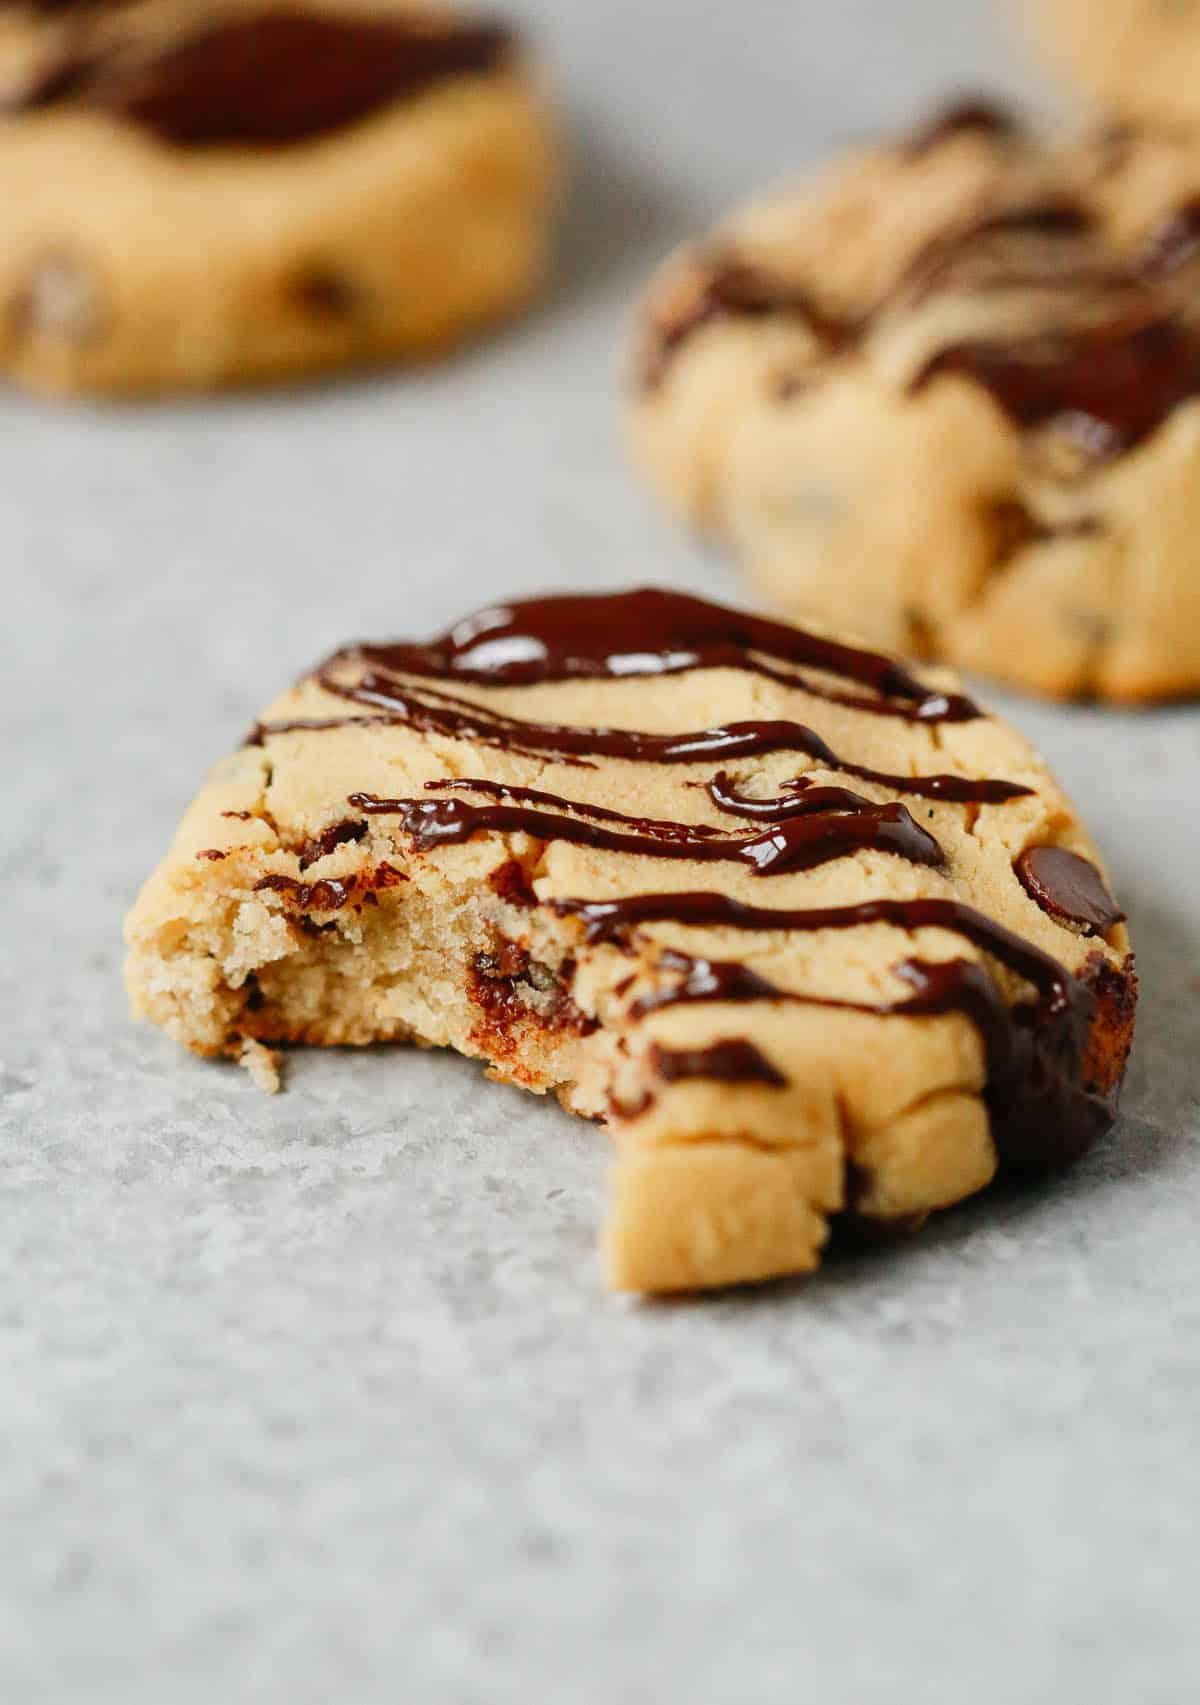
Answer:
POLYGON ((873 805, 845 815, 791 817, 757 835, 724 835, 706 824, 663 824, 588 806, 576 810, 574 801, 535 788, 508 789, 484 783, 481 791, 511 793, 520 803, 380 800, 370 793, 353 793, 349 803, 368 817, 399 817, 401 829, 412 837, 412 847, 419 852, 460 844, 481 834, 528 834, 539 841, 566 841, 605 852, 748 864, 755 876, 813 870, 862 849, 893 852, 914 864, 944 863, 934 837, 914 822, 903 805, 873 805), (527 803, 530 800, 535 803, 527 803), (574 815, 564 815, 568 812, 574 815), (622 827, 612 827, 617 824, 622 827))

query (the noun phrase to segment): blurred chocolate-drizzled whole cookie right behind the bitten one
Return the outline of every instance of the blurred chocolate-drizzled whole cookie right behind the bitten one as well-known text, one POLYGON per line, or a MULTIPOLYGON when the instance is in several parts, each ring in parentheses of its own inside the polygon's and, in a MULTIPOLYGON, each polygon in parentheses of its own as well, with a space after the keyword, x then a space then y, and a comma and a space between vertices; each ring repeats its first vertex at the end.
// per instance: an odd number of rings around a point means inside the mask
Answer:
POLYGON ((1057 697, 1200 685, 1200 150, 965 106, 651 285, 634 452, 759 592, 1057 697))

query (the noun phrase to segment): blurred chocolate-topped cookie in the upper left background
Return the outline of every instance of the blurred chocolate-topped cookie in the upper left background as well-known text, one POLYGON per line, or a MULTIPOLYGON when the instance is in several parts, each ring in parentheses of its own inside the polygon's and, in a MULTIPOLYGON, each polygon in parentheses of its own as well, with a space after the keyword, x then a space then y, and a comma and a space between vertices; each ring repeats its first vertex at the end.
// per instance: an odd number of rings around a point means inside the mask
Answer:
POLYGON ((537 286, 554 142, 499 24, 394 0, 5 24, 0 370, 24 385, 428 356, 537 286))

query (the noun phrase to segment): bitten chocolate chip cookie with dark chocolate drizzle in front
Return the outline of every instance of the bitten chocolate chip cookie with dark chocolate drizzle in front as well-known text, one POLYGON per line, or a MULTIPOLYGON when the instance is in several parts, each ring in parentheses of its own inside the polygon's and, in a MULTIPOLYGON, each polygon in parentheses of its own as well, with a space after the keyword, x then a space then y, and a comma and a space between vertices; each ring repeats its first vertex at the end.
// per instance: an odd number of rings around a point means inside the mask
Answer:
POLYGON ((1069 801, 953 679, 655 590, 336 651, 126 934, 135 1013, 268 1083, 278 1042, 412 1038, 603 1120, 631 1291, 1072 1161, 1135 997, 1069 801))

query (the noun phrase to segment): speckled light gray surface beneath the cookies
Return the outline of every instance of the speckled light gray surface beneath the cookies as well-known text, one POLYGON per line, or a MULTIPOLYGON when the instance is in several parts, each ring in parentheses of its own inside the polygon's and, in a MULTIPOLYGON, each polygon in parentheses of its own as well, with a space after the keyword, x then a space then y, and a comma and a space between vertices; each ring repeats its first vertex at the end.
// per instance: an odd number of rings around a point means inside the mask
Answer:
POLYGON ((598 1134, 455 1059, 268 1100, 124 1018, 119 922, 331 643, 494 588, 731 583, 627 481, 648 259, 990 68, 953 0, 540 12, 580 142, 554 300, 419 379, 0 401, 0 1696, 1183 1705, 1200 1686, 1200 711, 1007 701, 1115 868, 1127 1112, 1040 1195, 639 1308, 598 1134))

